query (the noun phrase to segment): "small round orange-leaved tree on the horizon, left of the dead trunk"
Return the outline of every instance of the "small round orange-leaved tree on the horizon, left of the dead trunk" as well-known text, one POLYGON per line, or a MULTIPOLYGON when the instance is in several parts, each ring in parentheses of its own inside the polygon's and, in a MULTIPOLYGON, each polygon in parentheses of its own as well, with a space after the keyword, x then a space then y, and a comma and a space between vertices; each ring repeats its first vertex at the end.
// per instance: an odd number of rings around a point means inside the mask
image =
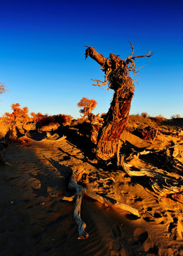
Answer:
POLYGON ((79 112, 84 115, 84 117, 89 116, 92 110, 96 107, 97 102, 96 100, 89 100, 87 97, 82 97, 79 103, 77 103, 77 107, 83 107, 79 112))

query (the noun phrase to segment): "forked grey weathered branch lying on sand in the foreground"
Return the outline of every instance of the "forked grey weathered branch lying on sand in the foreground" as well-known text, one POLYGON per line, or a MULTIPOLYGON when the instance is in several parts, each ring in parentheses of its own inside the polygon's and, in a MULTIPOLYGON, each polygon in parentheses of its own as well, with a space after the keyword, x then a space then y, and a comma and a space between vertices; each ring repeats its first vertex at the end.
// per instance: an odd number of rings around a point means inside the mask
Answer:
POLYGON ((82 218, 81 218, 81 205, 82 205, 82 198, 84 196, 88 196, 89 198, 92 198, 98 201, 99 203, 104 204, 104 206, 107 206, 107 207, 117 206, 122 210, 127 210, 129 213, 132 213, 133 215, 140 217, 138 210, 136 210, 135 208, 128 206, 124 203, 118 202, 113 198, 105 198, 103 196, 100 196, 98 193, 89 191, 89 189, 79 185, 78 182, 82 180, 83 174, 84 174, 83 171, 72 170, 72 176, 70 178, 69 188, 72 190, 74 189, 76 193, 72 197, 62 197, 62 200, 66 200, 66 201, 73 201, 74 198, 76 198, 76 203, 74 208, 74 219, 76 220, 78 225, 78 232, 79 232, 78 239, 86 239, 89 237, 89 235, 85 231, 85 228, 87 227, 87 225, 82 221, 82 218))

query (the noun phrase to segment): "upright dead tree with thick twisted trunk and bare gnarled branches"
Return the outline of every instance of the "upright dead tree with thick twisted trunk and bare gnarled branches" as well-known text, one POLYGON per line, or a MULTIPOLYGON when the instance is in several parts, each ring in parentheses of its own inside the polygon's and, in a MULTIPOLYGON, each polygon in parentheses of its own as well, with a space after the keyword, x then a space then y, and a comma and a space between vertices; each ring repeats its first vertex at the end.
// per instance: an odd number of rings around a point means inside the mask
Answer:
POLYGON ((128 114, 131 110, 131 100, 135 86, 129 73, 137 73, 135 70, 135 59, 150 57, 153 53, 149 51, 145 55, 133 57, 134 48, 131 44, 132 53, 125 60, 121 60, 119 55, 110 53, 109 58, 104 58, 94 47, 87 46, 85 56, 96 60, 101 65, 101 70, 105 73, 105 80, 94 80, 96 86, 101 87, 108 83, 107 90, 114 90, 111 107, 106 114, 104 124, 99 131, 96 157, 101 160, 108 160, 116 157, 118 142, 122 132, 126 129, 128 114))

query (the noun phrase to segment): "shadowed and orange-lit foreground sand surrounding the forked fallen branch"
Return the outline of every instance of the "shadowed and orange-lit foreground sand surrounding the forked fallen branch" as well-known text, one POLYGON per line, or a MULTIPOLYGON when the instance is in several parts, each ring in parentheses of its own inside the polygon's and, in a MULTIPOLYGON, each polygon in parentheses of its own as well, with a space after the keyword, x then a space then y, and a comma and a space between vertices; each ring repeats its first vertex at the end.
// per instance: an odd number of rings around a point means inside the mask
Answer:
MULTIPOLYGON (((161 145, 159 140, 155 146, 161 145)), ((10 165, 0 165, 1 255, 183 255, 182 203, 150 193, 143 178, 138 182, 120 169, 97 169, 96 161, 67 139, 11 144, 5 161, 10 165), (140 218, 84 198, 89 238, 78 240, 74 203, 62 201, 74 195, 68 189, 73 164, 89 172, 89 189, 133 206, 140 218)))

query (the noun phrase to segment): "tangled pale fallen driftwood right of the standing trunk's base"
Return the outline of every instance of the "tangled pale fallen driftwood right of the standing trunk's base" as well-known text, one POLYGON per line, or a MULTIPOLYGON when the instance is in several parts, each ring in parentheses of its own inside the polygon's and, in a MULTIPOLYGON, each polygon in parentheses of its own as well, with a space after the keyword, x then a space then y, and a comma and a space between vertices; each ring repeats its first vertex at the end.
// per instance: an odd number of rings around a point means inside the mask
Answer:
POLYGON ((128 161, 132 159, 138 159, 140 155, 155 153, 155 151, 135 151, 130 154, 130 156, 121 156, 120 164, 123 167, 123 170, 129 176, 146 176, 150 178, 149 183, 153 191, 159 196, 167 196, 175 193, 182 193, 183 191, 183 178, 182 178, 182 163, 176 158, 179 156, 180 152, 178 145, 181 144, 182 139, 174 144, 173 146, 167 146, 167 149, 156 151, 156 153, 164 154, 165 162, 162 162, 164 168, 167 171, 162 169, 140 169, 140 171, 133 170, 133 166, 128 164, 128 161), (180 175, 179 175, 180 174, 180 175))

